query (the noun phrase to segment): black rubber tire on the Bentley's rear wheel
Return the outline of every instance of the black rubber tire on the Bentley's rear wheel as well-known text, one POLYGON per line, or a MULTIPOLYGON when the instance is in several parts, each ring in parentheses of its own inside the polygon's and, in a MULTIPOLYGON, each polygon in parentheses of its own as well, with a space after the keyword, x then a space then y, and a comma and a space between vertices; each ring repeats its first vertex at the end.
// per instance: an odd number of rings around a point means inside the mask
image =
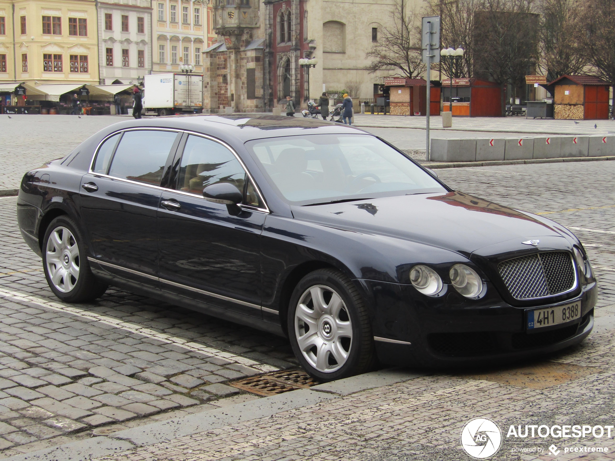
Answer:
POLYGON ((45 232, 45 237, 42 242, 42 266, 45 271, 45 278, 49 288, 54 292, 55 296, 66 302, 84 302, 92 301, 105 293, 108 285, 98 280, 87 261, 85 253, 85 244, 79 228, 74 223, 73 219, 68 216, 58 216, 49 224, 45 232), (66 232, 68 230, 68 232, 66 232), (65 234, 66 233, 66 234, 65 234), (53 240, 50 242, 50 238, 53 240), (59 236, 62 236, 61 238, 59 236), (71 245, 64 250, 62 243, 67 240, 68 245, 71 245), (58 239, 62 243, 58 245, 58 239), (55 251, 49 251, 53 248, 55 251), (76 250, 76 251, 75 251, 76 250), (58 258, 54 262, 54 255, 58 258), (62 276, 62 270, 58 272, 58 264, 65 274, 62 276), (77 277, 74 277, 71 270, 74 267, 78 268, 77 277), (50 274, 50 270, 54 270, 54 274, 50 274), (54 275, 56 282, 54 282, 54 275), (59 277, 59 279, 58 279, 59 277))

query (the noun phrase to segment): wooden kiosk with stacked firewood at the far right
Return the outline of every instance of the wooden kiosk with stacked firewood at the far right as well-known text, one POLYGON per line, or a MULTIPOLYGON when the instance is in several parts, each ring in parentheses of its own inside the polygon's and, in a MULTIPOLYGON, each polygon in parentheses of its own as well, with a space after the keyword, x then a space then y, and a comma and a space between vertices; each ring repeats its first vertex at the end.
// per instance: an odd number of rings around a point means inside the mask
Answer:
POLYGON ((610 85, 590 75, 563 75, 550 82, 555 119, 608 119, 610 85))

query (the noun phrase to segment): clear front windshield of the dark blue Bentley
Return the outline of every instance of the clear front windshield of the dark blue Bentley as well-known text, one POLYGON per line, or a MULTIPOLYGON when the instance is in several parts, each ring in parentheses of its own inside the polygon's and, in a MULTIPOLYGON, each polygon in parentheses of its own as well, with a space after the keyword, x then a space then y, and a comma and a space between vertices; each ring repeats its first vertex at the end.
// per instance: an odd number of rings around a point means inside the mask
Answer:
POLYGON ((429 173, 370 135, 253 140, 248 151, 293 205, 446 192, 429 173))

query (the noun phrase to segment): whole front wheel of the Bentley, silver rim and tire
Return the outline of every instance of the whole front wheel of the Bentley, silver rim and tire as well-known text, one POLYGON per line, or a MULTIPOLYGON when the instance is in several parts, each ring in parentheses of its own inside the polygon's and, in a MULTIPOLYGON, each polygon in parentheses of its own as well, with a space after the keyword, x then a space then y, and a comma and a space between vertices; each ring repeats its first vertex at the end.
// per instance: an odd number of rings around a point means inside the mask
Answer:
POLYGON ((295 287, 288 336, 303 368, 330 381, 370 371, 376 364, 367 308, 344 274, 320 269, 295 287))

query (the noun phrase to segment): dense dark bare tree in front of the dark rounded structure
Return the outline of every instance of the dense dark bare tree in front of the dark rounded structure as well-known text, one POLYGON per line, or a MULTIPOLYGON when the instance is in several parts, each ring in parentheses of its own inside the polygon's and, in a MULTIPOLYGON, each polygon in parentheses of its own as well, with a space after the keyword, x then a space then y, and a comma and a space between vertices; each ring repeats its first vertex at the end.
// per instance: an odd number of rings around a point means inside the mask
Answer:
POLYGON ((501 85, 502 116, 506 85, 525 85, 538 60, 539 15, 533 0, 481 0, 474 18, 474 74, 501 85))

